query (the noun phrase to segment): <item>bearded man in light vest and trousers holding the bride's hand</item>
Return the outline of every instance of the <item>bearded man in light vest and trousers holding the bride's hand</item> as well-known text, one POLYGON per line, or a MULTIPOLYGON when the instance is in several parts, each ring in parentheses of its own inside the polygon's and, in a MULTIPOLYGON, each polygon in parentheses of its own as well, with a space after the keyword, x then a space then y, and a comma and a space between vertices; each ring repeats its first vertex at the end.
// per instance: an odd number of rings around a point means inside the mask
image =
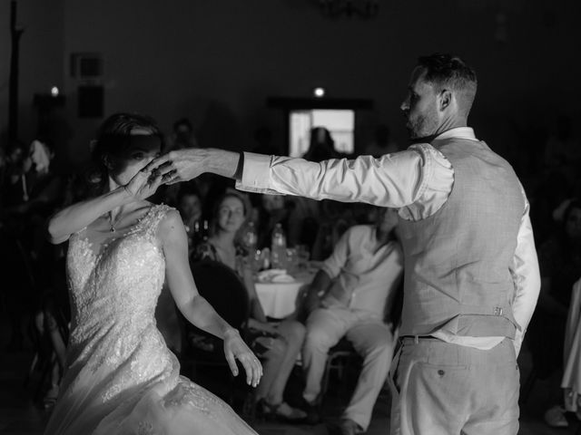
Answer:
MULTIPOLYGON (((474 71, 420 57, 401 104, 408 150, 320 163, 223 150, 154 160, 164 181, 213 172, 239 189, 399 208, 405 253, 391 434, 517 434, 517 354, 540 286, 528 202, 468 127, 474 71)), ((357 427, 344 433, 357 433, 357 427)))

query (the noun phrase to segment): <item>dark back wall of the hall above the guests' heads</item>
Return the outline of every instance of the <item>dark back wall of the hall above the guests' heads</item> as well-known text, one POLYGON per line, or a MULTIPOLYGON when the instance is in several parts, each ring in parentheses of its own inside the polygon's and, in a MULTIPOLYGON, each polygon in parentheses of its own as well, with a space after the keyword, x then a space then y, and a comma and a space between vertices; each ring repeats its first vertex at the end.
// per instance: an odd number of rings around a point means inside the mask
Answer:
MULTIPOLYGON (((576 0, 381 2, 379 16, 369 21, 331 20, 314 0, 20 3, 22 19, 30 24, 23 38, 28 56, 21 63, 23 111, 30 111, 32 93, 63 81, 74 161, 86 157, 88 140, 102 121, 76 117, 77 83, 65 74, 76 52, 103 53, 105 113, 148 113, 166 131, 185 115, 206 146, 248 148, 261 124, 271 125, 283 143, 281 113, 266 108, 266 98, 309 96, 316 85, 332 96, 376 102, 376 110, 360 121, 360 140, 383 121, 403 142, 398 108, 409 71, 417 55, 435 51, 464 55, 477 69, 471 123, 507 156, 524 146, 516 143, 525 137, 519 131, 549 125, 560 111, 578 116, 572 98, 581 94, 576 0), (497 24, 500 12, 504 26, 497 24), (498 41, 503 28, 504 43, 498 41), (31 73, 34 77, 25 76, 31 73)), ((5 16, 5 4, 0 7, 5 16)), ((5 54, 4 40, 0 53, 5 54)), ((0 83, 5 69, 3 64, 0 83)), ((4 84, 0 99, 4 120, 4 84)))

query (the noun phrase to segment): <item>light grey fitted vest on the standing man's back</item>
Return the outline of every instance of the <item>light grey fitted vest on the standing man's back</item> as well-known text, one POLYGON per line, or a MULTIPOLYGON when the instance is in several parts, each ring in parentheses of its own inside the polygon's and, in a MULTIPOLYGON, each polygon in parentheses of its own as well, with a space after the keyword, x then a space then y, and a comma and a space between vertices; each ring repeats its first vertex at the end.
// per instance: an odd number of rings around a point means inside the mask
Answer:
POLYGON ((510 267, 525 210, 517 176, 484 142, 432 145, 451 162, 454 186, 432 216, 399 220, 405 255, 400 335, 443 329, 514 338, 510 267))

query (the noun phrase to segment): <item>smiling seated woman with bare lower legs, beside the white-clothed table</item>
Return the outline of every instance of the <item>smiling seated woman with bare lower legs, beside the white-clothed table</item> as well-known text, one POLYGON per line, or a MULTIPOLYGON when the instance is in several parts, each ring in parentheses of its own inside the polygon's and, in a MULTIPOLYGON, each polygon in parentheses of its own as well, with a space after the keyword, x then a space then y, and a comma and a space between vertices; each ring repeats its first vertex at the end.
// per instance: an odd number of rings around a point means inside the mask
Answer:
POLYGON ((282 420, 299 421, 307 414, 282 400, 282 394, 300 353, 304 326, 293 320, 270 324, 256 295, 250 262, 235 243, 238 230, 246 218, 246 203, 237 193, 220 198, 212 213, 212 235, 197 249, 198 259, 212 259, 230 266, 240 277, 251 302, 248 326, 253 351, 263 359, 261 382, 255 391, 258 411, 282 420))

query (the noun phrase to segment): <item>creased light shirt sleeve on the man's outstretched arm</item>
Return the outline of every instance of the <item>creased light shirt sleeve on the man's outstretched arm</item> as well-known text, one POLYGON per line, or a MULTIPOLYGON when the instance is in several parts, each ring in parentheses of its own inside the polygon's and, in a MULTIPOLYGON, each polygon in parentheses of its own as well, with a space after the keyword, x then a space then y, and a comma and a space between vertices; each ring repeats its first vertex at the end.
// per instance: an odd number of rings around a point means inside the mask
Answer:
POLYGON ((430 152, 422 146, 386 154, 320 163, 244 153, 237 189, 399 208, 416 201, 431 176, 430 152))

